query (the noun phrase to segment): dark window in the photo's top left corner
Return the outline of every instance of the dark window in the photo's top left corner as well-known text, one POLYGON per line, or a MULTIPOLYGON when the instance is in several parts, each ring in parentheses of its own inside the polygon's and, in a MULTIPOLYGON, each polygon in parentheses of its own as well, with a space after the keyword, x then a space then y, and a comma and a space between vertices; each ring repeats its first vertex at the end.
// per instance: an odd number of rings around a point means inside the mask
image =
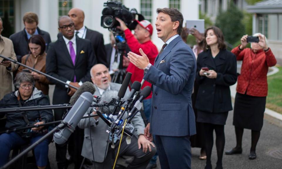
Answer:
POLYGON ((14 1, 0 0, 0 17, 3 21, 2 36, 9 37, 15 28, 14 1))

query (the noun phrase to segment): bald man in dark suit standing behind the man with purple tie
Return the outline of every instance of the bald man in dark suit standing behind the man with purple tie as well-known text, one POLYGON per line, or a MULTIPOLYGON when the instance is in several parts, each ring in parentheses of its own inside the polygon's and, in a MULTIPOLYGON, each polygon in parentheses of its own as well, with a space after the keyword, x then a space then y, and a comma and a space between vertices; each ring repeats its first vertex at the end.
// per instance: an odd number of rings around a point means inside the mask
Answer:
MULTIPOLYGON (((103 34, 88 29, 86 26, 84 26, 83 22, 85 15, 81 9, 78 8, 71 9, 68 12, 68 16, 71 18, 71 20, 75 25, 75 35, 78 38, 89 39, 90 42, 92 43, 94 53, 97 57, 97 62, 109 67, 109 65, 107 64, 107 56, 106 56, 103 34)), ((58 38, 60 38, 61 36, 62 34, 58 33, 58 38)))

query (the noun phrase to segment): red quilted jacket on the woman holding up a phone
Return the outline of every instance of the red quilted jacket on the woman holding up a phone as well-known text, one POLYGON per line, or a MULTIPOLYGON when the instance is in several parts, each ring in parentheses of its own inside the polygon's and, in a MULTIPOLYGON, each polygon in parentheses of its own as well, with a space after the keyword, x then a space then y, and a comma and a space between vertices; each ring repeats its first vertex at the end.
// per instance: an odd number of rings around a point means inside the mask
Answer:
POLYGON ((243 60, 241 75, 238 76, 237 92, 250 96, 267 96, 267 72, 268 67, 276 65, 276 59, 271 49, 262 49, 254 53, 250 48, 243 50, 239 46, 231 50, 237 60, 243 60), (247 92, 246 92, 247 91, 247 92))

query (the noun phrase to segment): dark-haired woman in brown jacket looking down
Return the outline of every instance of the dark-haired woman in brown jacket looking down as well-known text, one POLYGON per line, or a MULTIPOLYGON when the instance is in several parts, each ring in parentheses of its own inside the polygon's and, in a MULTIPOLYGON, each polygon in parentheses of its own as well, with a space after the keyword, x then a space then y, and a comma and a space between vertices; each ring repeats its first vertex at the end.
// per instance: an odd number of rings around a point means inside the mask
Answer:
MULTIPOLYGON (((39 70, 43 73, 46 73, 46 52, 45 52, 45 41, 41 35, 33 35, 28 40, 28 50, 29 54, 22 57, 21 62, 24 65, 32 67, 36 70, 39 70)), ((48 95, 49 92, 49 81, 46 76, 33 72, 26 69, 23 66, 19 67, 17 73, 26 71, 30 72, 35 79, 35 87, 38 90, 41 90, 43 94, 48 95)))

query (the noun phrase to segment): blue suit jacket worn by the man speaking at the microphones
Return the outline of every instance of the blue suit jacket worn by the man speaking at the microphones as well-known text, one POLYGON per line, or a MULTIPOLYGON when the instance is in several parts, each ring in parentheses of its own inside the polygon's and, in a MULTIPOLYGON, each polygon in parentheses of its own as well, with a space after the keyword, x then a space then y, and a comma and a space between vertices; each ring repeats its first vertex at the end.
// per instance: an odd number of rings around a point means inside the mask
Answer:
POLYGON ((178 36, 157 56, 154 66, 144 76, 153 84, 151 133, 161 136, 196 134, 191 99, 195 73, 194 53, 178 36))

